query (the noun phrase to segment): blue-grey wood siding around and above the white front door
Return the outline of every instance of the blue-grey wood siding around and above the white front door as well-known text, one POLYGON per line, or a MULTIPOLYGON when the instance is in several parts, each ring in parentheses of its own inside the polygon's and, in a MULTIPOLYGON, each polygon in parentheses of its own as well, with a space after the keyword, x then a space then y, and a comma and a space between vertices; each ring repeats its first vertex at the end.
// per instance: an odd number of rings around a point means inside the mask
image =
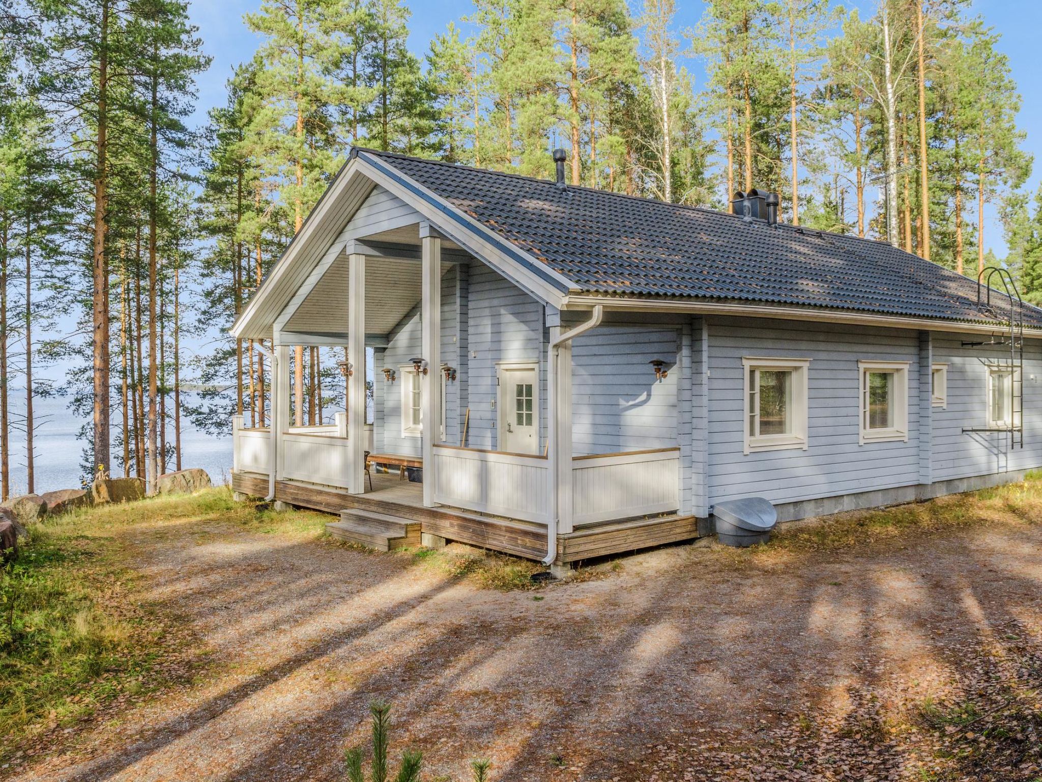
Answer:
POLYGON ((498 388, 498 361, 531 361, 541 365, 540 422, 545 432, 543 309, 527 293, 479 261, 472 262, 469 271, 467 397, 470 430, 467 444, 495 449, 498 447, 497 413, 493 405, 498 388))

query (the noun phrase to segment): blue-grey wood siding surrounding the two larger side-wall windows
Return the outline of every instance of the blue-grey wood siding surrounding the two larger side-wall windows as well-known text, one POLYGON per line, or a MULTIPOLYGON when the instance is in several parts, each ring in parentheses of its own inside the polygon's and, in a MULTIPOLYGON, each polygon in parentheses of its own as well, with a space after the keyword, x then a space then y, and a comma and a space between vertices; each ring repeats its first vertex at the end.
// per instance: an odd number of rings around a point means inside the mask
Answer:
POLYGON ((706 326, 711 503, 792 503, 918 483, 917 332, 737 318, 706 326), (743 356, 811 359, 808 449, 743 455, 743 356), (861 360, 911 362, 908 442, 858 444, 861 360))

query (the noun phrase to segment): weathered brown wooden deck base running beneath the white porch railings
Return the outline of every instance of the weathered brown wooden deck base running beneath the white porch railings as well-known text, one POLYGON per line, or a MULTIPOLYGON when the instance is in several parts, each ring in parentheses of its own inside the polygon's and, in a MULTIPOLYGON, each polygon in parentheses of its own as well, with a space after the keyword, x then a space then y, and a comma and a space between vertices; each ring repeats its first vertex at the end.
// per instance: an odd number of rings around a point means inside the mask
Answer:
MULTIPOLYGON (((455 508, 423 507, 423 485, 401 481, 395 474, 373 475, 373 490, 349 494, 331 486, 279 481, 275 498, 290 505, 341 515, 357 509, 419 522, 424 533, 446 540, 492 548, 525 559, 546 556, 546 526, 529 521, 483 516, 455 508)), ((234 491, 251 496, 268 494, 268 476, 232 472, 234 491)), ((366 488, 369 488, 368 482, 366 488)), ((334 522, 333 522, 334 523, 334 522)), ((606 557, 698 537, 694 516, 663 516, 629 521, 601 522, 577 527, 557 536, 557 563, 606 557)))

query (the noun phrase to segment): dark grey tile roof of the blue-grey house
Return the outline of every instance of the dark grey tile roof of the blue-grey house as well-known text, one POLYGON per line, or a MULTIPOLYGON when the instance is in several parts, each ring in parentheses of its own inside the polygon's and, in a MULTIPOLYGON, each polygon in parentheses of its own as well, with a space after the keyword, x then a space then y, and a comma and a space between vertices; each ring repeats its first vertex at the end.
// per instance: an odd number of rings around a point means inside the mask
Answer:
MULTIPOLYGON (((363 151, 363 150, 359 150, 363 151)), ((882 242, 364 150, 594 294, 756 301, 966 321, 976 283, 882 242)), ((1006 301, 1004 307, 999 302, 1006 301)), ((1042 310, 1024 308, 1042 327, 1042 310)))

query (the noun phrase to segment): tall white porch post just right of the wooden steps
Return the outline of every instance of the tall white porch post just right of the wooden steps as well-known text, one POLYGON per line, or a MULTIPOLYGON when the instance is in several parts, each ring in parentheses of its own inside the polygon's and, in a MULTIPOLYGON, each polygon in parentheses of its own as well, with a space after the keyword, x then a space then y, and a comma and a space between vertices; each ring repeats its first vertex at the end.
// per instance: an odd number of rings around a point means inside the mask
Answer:
POLYGON ((423 303, 420 320, 422 358, 427 362, 427 373, 422 375, 420 398, 423 416, 423 505, 432 508, 435 503, 435 442, 441 432, 442 384, 442 238, 428 223, 420 224, 423 266, 423 303))

